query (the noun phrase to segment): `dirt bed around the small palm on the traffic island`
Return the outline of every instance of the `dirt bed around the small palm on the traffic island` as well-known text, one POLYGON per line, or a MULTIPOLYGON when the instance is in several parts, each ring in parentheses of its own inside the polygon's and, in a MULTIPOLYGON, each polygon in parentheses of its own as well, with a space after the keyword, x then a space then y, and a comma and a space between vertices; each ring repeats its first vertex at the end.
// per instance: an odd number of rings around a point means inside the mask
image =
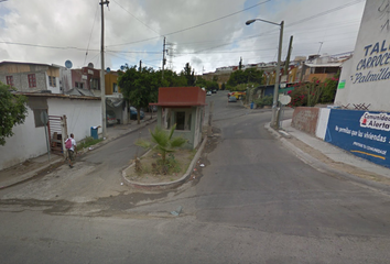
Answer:
POLYGON ((173 154, 167 154, 169 172, 162 169, 161 155, 151 151, 140 158, 141 172, 136 172, 136 166, 126 169, 126 177, 129 180, 142 184, 171 183, 183 177, 191 162, 196 154, 196 150, 177 150, 173 154))

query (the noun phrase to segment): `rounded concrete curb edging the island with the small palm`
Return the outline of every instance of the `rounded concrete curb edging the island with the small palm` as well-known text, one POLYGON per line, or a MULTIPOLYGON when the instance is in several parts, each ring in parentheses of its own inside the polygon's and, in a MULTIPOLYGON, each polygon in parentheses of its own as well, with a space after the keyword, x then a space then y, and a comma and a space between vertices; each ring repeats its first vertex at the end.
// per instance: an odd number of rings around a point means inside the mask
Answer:
MULTIPOLYGON (((180 179, 176 179, 176 180, 170 182, 170 183, 156 183, 156 184, 142 184, 142 183, 130 180, 130 179, 128 179, 126 177, 126 170, 128 168, 131 168, 132 166, 134 166, 134 163, 132 163, 130 166, 128 166, 127 168, 124 168, 122 170, 122 179, 123 179, 126 185, 128 185, 130 187, 133 187, 133 188, 137 188, 137 189, 164 190, 164 189, 176 188, 176 187, 183 185, 187 180, 187 178, 191 177, 191 174, 192 174, 192 172, 193 172, 193 169, 194 169, 194 167, 196 165, 196 162, 197 162, 197 160, 199 160, 201 154, 202 154, 203 150, 205 148, 206 142, 207 142, 207 136, 205 136, 203 139, 203 142, 202 142, 199 148, 197 150, 193 161, 191 162, 191 164, 189 164, 189 166, 187 168, 187 172, 180 179)), ((145 153, 144 155, 147 155, 147 154, 148 153, 145 153)))

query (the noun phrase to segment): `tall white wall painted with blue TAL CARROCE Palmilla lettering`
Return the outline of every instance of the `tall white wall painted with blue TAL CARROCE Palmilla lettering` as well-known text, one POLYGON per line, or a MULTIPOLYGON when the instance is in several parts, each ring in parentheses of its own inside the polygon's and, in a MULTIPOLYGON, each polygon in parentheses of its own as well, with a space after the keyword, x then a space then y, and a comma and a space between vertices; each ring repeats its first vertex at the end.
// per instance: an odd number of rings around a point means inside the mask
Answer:
POLYGON ((345 62, 335 103, 390 111, 390 0, 366 1, 353 58, 345 62))

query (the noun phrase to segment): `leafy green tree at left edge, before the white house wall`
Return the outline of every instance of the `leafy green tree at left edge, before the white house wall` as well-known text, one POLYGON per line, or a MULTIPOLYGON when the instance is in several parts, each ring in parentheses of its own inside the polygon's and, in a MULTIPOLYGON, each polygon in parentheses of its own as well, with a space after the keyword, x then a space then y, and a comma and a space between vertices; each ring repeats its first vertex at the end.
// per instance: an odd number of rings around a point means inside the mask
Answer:
POLYGON ((26 97, 14 95, 10 89, 0 82, 0 145, 6 144, 6 138, 13 135, 12 128, 22 124, 28 114, 26 97))

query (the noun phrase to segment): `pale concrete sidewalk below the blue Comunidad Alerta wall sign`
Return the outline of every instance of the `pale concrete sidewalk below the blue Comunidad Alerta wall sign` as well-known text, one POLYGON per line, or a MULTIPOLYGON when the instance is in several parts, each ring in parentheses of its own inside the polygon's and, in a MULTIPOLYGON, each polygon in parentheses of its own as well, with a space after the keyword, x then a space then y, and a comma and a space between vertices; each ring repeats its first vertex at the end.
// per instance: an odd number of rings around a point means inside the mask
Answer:
POLYGON ((390 191, 390 169, 334 146, 321 139, 291 127, 291 119, 284 120, 279 132, 266 128, 277 136, 284 147, 292 151, 306 164, 333 175, 342 175, 356 183, 390 191))

